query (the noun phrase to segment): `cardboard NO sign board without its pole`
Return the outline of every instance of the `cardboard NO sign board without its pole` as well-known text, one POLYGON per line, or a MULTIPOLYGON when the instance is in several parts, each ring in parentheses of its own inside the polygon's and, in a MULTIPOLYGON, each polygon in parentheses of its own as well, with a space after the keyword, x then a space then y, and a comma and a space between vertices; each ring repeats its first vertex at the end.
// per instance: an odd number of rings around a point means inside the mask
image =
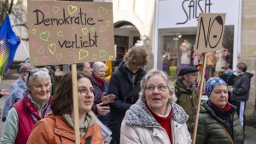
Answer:
POLYGON ((199 14, 195 54, 222 49, 225 14, 199 14))

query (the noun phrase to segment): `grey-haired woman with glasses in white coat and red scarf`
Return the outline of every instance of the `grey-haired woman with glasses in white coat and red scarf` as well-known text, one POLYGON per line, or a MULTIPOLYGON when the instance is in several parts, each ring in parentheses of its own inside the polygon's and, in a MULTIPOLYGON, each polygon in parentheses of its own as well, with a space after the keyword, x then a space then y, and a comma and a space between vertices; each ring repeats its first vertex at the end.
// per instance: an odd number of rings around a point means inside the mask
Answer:
POLYGON ((190 144, 188 115, 178 106, 171 79, 160 70, 141 81, 139 100, 125 113, 120 143, 190 144))

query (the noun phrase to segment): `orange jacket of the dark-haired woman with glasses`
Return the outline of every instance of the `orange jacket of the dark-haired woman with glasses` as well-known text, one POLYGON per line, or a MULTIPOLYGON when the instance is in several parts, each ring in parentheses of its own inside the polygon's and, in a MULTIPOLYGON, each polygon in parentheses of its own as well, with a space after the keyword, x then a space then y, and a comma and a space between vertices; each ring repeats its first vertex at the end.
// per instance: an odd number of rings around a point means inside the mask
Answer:
MULTIPOLYGON (((93 144, 103 144, 101 128, 98 124, 92 124, 84 136, 80 136, 80 143, 85 143, 91 136, 93 144)), ((49 115, 35 124, 27 144, 56 144, 75 143, 75 132, 62 116, 55 116, 51 112, 49 115)))

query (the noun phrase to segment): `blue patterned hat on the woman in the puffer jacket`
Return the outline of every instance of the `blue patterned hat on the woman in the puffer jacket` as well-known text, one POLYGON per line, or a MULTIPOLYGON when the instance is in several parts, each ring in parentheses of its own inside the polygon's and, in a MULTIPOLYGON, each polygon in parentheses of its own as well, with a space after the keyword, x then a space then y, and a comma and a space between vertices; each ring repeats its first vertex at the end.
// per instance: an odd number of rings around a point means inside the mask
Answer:
POLYGON ((206 89, 205 92, 207 94, 207 96, 209 97, 212 93, 212 89, 216 86, 216 85, 220 85, 220 84, 224 84, 227 85, 223 79, 221 78, 209 78, 207 81, 207 85, 206 85, 206 89))

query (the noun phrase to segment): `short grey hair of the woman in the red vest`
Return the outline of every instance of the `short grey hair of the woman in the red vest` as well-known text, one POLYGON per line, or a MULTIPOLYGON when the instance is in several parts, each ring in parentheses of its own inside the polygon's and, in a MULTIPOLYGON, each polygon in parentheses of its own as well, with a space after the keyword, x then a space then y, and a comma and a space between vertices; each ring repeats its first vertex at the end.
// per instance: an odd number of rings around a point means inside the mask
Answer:
POLYGON ((49 81, 49 84, 51 84, 49 70, 46 68, 39 68, 37 70, 38 72, 32 73, 32 71, 35 71, 35 69, 32 69, 26 76, 27 89, 31 89, 34 84, 40 83, 44 80, 49 81))

